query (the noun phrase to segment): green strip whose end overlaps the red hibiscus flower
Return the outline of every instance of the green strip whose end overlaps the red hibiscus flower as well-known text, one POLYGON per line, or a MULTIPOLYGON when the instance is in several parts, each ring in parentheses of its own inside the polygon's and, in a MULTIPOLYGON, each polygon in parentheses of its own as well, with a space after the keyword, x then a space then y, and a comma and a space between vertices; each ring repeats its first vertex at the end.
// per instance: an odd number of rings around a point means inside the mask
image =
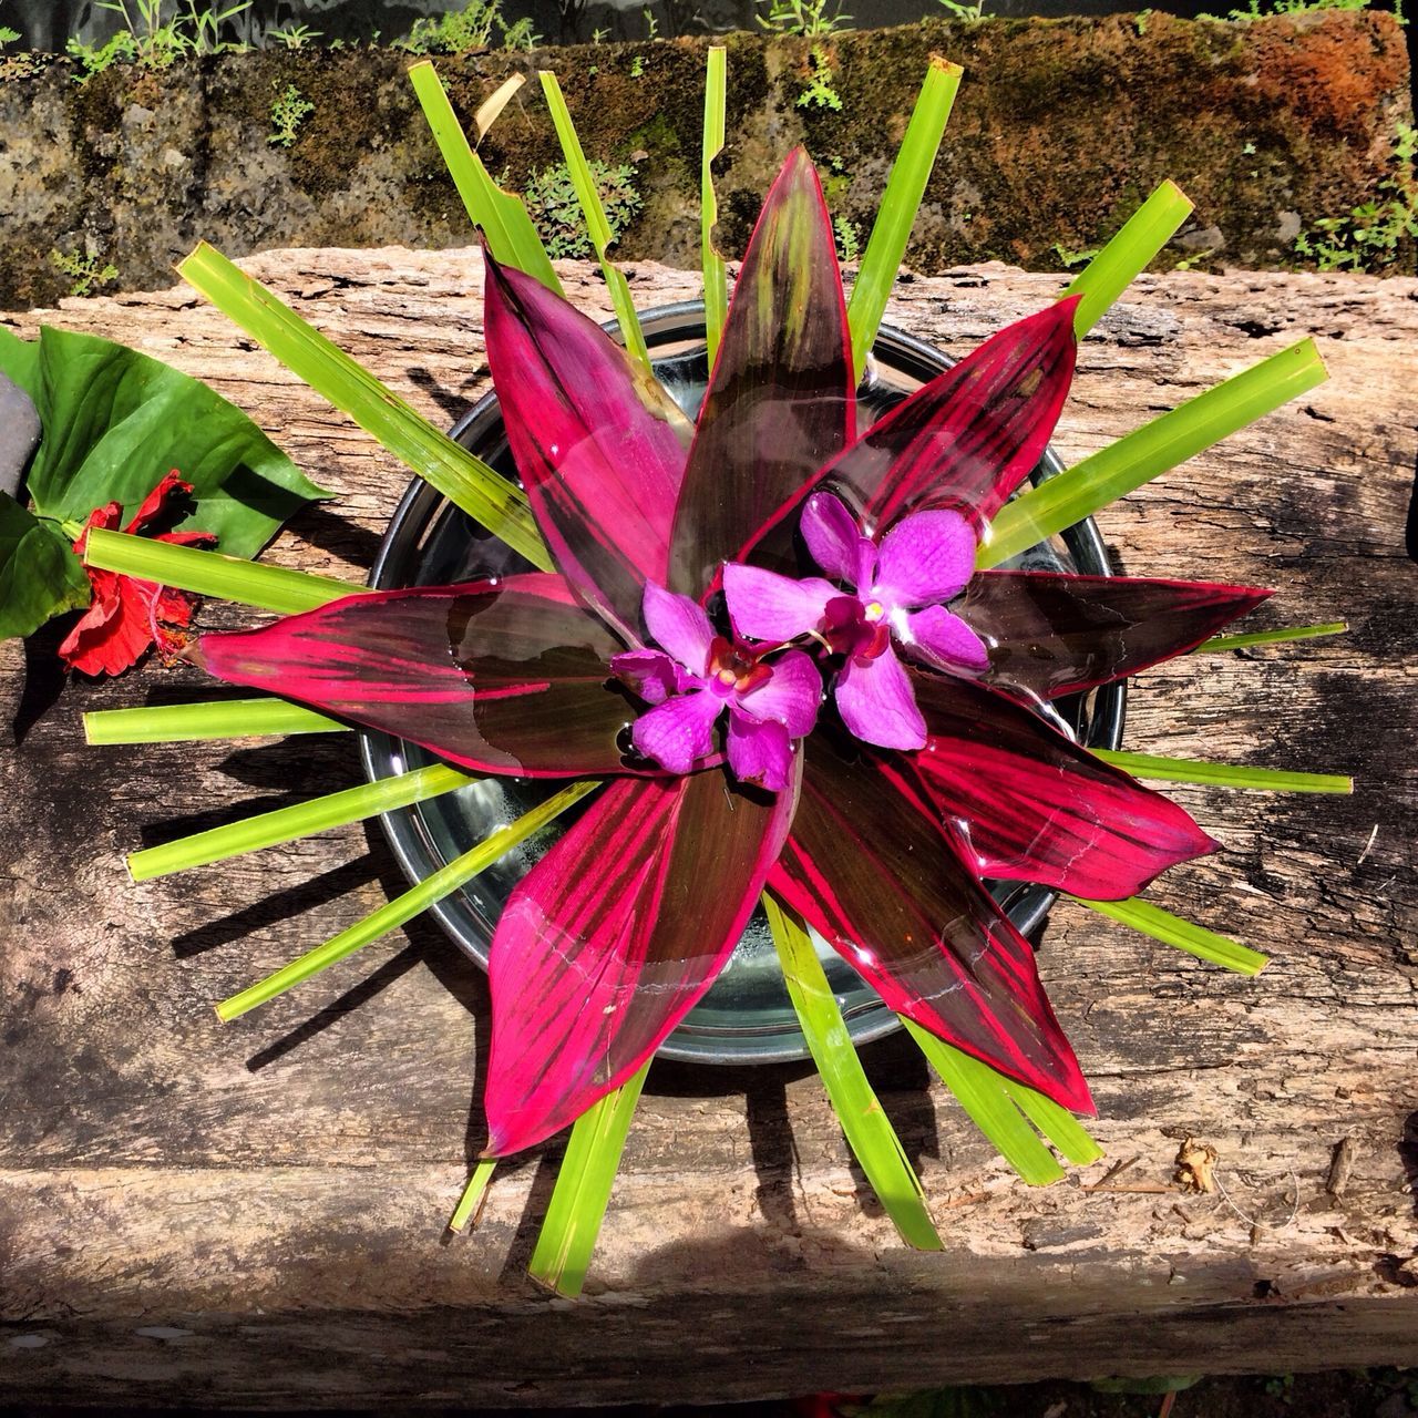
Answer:
POLYGON ((104 527, 89 529, 84 543, 84 564, 281 615, 313 611, 342 596, 359 596, 367 590, 333 576, 311 576, 309 571, 247 562, 244 557, 223 556, 221 552, 207 552, 200 546, 179 546, 176 542, 108 532, 104 527))

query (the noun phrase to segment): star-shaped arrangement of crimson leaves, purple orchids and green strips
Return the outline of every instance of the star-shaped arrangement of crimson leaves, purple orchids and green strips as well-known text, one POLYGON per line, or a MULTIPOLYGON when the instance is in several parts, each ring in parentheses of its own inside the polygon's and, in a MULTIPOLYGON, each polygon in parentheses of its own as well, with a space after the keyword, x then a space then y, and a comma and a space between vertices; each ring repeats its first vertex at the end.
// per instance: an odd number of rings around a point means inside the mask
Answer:
MULTIPOLYGON (((722 62, 710 51, 706 228, 722 62)), ((1217 632, 1268 593, 1007 563, 1312 387, 1323 377, 1313 346, 1029 488, 1078 339, 1187 210, 1168 189, 1061 299, 859 428, 856 389, 910 225, 902 210, 920 200, 959 82, 959 69, 936 64, 851 306, 801 150, 767 194, 726 309, 723 264, 706 240, 712 373, 691 423, 655 379, 618 272, 605 262, 623 342, 562 296, 525 210, 461 140, 431 67, 414 78, 485 233, 488 360, 520 489, 216 252, 200 250, 184 274, 522 553, 525 569, 364 591, 91 530, 92 566, 285 613, 187 649, 218 679, 269 698, 94 715, 91 736, 356 725, 441 760, 241 824, 240 842, 218 828, 135 854, 135 876, 421 801, 469 771, 564 780, 540 808, 218 1012, 245 1012, 393 929, 581 803, 491 943, 488 1146, 455 1222, 495 1159, 574 1124, 533 1258, 533 1273, 574 1293, 645 1069, 763 900, 848 1140, 902 1235, 939 1246, 891 1124, 866 1106, 810 930, 900 1015, 1034 1181, 1056 1168, 1041 1133, 1071 1160, 1098 1156, 1071 1116, 1092 1102, 1034 951, 988 881, 1037 882, 1207 959, 1259 968, 1254 951, 1136 900, 1217 844, 1126 770, 1329 791, 1346 780, 1095 753, 1048 706, 1234 644, 1217 632), (1025 1140, 1021 1113, 1035 1129, 1025 1140)), ((584 157, 554 78, 543 82, 604 261, 584 157)))

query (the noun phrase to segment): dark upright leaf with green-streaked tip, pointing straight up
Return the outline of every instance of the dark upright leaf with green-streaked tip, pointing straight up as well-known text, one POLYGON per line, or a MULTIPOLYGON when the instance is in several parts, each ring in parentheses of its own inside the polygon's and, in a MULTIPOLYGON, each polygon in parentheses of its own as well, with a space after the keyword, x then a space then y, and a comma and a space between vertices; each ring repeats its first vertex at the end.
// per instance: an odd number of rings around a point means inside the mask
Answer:
MULTIPOLYGON (((744 532, 847 447, 851 366, 832 224, 798 147, 763 204, 729 306, 675 510, 672 590, 710 590, 744 532)), ((791 527, 754 560, 788 570, 791 527)))

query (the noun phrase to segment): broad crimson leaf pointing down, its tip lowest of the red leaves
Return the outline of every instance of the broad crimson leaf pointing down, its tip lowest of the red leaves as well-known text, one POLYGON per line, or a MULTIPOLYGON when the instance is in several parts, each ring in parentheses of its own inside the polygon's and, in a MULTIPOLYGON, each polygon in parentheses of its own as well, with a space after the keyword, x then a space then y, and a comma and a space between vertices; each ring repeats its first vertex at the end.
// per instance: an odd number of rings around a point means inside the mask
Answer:
POLYGON ((654 1054, 729 959, 795 797, 716 771, 623 778, 532 868, 488 961, 489 1154, 549 1137, 654 1054))

